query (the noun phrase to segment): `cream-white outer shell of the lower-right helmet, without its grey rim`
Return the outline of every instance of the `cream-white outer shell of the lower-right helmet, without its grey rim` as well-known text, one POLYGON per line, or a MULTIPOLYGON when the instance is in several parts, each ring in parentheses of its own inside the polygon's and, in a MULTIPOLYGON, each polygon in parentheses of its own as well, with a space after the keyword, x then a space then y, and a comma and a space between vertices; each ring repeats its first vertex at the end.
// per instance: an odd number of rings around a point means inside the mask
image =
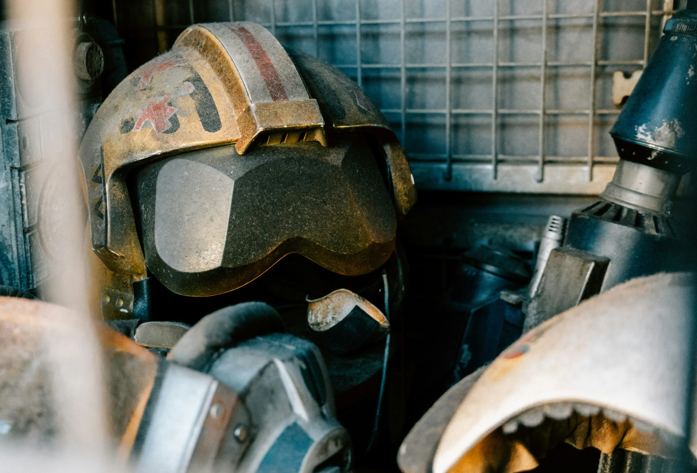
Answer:
MULTIPOLYGON (((691 284, 687 274, 634 279, 523 336, 489 366, 459 406, 438 446, 434 472, 450 470, 468 452, 476 457, 485 451, 480 441, 490 437, 487 442, 503 441, 497 449, 518 449, 516 442, 528 448, 534 442, 528 444, 524 435, 536 438, 533 431, 512 434, 537 426, 544 430, 574 412, 597 417, 597 425, 623 426, 597 437, 585 436, 595 431, 586 426, 581 437, 567 439, 577 448, 590 441, 611 453, 624 442, 643 453, 675 454, 671 444, 684 435, 687 414, 691 284)), ((547 431, 537 438, 546 444, 551 437, 547 431)), ((530 451, 537 456, 537 449, 530 451)))

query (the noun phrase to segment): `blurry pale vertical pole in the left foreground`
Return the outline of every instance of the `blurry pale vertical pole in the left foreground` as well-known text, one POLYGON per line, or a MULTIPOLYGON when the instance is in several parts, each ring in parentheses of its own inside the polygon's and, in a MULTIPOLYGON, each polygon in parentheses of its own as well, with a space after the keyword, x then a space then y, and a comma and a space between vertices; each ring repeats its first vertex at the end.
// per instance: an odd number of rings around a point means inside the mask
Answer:
MULTIPOLYGON (((37 110, 41 127, 50 130, 50 142, 43 144, 49 176, 40 190, 26 191, 40 192, 44 206, 39 232, 49 247, 51 276, 40 288, 40 297, 72 309, 70 320, 61 320, 70 339, 49 335, 45 341, 53 365, 56 447, 99 457, 107 443, 105 393, 86 298, 85 202, 78 180, 77 84, 72 70, 77 13, 69 0, 6 1, 15 31, 17 107, 37 110)), ((34 197, 38 201, 38 195, 34 197)))

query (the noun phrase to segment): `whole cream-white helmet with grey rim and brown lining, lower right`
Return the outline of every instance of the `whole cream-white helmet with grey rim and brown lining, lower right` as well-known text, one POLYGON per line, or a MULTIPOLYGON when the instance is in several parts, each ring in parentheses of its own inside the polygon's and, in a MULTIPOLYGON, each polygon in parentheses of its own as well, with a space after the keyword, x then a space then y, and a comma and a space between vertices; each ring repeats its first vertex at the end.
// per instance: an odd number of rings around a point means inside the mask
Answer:
POLYGON ((434 404, 401 470, 524 472, 565 443, 673 471, 687 453, 693 286, 689 273, 633 279, 535 327, 434 404))

